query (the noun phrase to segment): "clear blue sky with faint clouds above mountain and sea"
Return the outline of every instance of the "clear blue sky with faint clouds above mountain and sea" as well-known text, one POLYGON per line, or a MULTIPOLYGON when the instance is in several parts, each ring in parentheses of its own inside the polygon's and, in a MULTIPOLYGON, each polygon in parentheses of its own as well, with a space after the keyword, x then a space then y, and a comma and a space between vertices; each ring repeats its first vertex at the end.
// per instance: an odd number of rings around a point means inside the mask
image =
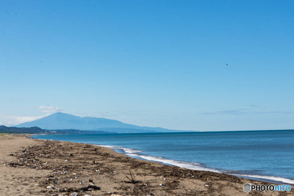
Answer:
POLYGON ((167 129, 294 129, 293 10, 0 1, 0 125, 61 111, 167 129))

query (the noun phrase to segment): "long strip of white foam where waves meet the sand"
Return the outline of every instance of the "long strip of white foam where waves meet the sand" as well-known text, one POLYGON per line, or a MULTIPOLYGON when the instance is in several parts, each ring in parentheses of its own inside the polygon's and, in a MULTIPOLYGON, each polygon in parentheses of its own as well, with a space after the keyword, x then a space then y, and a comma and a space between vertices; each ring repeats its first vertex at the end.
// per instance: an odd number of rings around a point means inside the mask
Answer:
POLYGON ((175 165, 181 168, 187 168, 191 170, 203 170, 203 171, 211 171, 211 172, 216 172, 216 173, 226 173, 230 175, 238 175, 238 176, 243 176, 244 178, 258 178, 258 179, 264 179, 266 180, 271 180, 274 182, 281 182, 281 183, 287 183, 287 184, 294 184, 294 180, 288 179, 288 178, 282 178, 282 177, 277 177, 277 176, 262 176, 262 175, 247 175, 247 174, 234 174, 231 172, 228 172, 228 170, 217 170, 214 168, 208 168, 204 167, 200 163, 194 163, 194 162, 187 162, 187 161, 178 161, 178 160, 171 160, 171 159, 166 159, 163 157, 155 157, 155 156, 144 156, 140 155, 137 153, 140 153, 142 151, 138 150, 133 150, 133 148, 124 148, 122 146, 106 146, 106 145, 97 145, 97 146, 102 146, 102 147, 107 147, 107 148, 114 148, 114 149, 120 149, 126 152, 126 155, 128 156, 135 156, 135 157, 140 157, 146 160, 151 160, 151 161, 157 161, 161 163, 166 163, 170 165, 175 165))

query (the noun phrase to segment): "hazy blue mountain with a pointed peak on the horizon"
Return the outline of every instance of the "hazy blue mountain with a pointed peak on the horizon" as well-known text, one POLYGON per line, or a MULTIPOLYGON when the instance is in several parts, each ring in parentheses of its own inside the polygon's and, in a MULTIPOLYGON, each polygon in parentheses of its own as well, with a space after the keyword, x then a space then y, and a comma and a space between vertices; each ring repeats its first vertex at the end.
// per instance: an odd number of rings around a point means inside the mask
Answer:
MULTIPOLYGON (((147 127, 147 126, 136 126, 131 124, 122 123, 121 121, 96 118, 96 117, 79 117, 71 114, 65 114, 62 112, 56 112, 50 116, 44 118, 25 122, 15 127, 32 127, 37 126, 41 129, 78 129, 78 130, 93 130, 99 128, 130 128, 130 129, 141 129, 158 132, 189 132, 181 130, 163 129, 161 127, 147 127)), ((116 131, 117 132, 117 131, 116 131)))

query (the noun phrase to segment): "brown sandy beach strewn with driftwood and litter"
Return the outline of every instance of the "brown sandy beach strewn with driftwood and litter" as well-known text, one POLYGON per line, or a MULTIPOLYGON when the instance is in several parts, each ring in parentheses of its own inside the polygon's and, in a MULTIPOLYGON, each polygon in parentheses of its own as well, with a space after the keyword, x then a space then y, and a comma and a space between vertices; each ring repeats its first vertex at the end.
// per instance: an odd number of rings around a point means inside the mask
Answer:
POLYGON ((246 193, 245 183, 273 183, 161 165, 95 145, 5 135, 0 149, 0 195, 294 195, 293 187, 246 193))

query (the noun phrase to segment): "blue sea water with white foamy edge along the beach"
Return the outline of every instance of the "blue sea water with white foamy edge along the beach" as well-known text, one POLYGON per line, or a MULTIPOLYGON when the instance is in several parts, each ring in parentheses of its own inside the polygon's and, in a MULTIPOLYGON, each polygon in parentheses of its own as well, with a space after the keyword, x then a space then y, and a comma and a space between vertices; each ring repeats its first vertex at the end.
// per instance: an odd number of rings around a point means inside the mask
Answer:
POLYGON ((91 143, 134 158, 195 170, 294 184, 294 130, 148 134, 38 135, 91 143))

